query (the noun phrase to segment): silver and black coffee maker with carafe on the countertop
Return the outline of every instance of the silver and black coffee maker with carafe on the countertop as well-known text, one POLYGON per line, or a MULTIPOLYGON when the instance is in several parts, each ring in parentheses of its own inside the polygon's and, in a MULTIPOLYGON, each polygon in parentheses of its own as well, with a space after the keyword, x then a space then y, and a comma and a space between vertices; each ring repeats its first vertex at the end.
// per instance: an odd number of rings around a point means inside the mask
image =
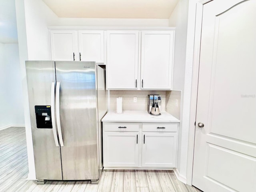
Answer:
POLYGON ((161 96, 148 95, 148 113, 150 115, 160 115, 161 113, 161 96))

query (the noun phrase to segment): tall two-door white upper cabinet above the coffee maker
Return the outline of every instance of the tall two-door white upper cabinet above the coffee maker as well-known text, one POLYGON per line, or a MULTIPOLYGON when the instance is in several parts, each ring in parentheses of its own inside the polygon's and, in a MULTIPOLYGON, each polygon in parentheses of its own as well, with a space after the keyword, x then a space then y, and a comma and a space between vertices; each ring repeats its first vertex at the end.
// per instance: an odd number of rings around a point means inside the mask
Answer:
POLYGON ((172 89, 174 30, 109 31, 107 42, 108 89, 172 89))

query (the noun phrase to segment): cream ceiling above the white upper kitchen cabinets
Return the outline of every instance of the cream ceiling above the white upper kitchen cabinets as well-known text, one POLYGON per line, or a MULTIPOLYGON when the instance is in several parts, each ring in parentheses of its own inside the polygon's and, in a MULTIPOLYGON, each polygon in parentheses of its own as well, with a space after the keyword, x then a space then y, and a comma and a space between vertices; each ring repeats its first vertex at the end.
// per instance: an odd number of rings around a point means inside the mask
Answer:
POLYGON ((58 16, 67 18, 168 19, 178 0, 43 0, 58 16))

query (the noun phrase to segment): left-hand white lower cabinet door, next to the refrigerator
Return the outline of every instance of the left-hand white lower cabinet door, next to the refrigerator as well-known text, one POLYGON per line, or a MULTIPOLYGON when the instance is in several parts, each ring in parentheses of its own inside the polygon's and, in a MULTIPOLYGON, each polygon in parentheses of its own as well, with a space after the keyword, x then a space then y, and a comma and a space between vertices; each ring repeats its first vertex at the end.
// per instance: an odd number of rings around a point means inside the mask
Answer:
POLYGON ((137 167, 138 132, 104 132, 103 166, 137 167))

